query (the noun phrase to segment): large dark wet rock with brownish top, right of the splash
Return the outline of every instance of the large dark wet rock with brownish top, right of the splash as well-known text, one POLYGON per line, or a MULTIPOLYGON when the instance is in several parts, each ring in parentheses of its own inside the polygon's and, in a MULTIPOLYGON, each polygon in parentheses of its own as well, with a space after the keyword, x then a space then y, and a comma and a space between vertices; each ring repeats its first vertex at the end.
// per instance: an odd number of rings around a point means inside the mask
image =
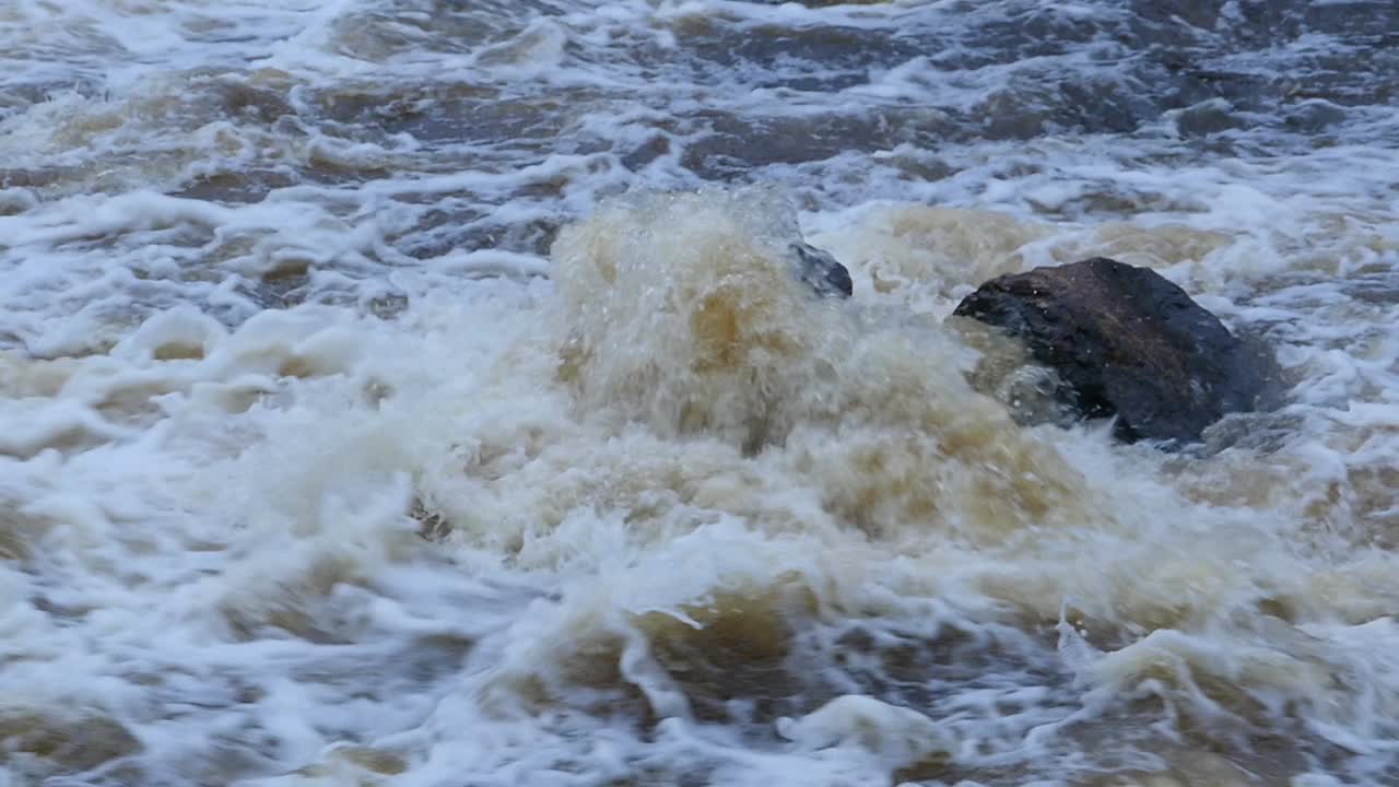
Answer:
POLYGON ((1226 413, 1272 398, 1270 353, 1146 267, 1094 258, 1002 276, 954 314, 1018 337, 1058 374, 1062 405, 1115 416, 1114 434, 1128 443, 1193 443, 1226 413))

